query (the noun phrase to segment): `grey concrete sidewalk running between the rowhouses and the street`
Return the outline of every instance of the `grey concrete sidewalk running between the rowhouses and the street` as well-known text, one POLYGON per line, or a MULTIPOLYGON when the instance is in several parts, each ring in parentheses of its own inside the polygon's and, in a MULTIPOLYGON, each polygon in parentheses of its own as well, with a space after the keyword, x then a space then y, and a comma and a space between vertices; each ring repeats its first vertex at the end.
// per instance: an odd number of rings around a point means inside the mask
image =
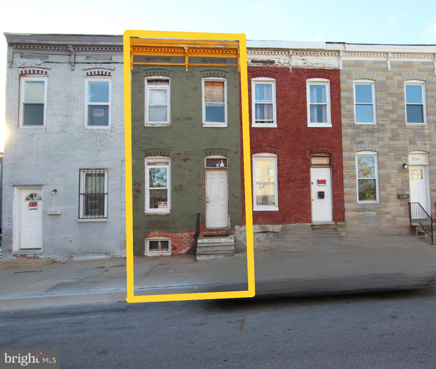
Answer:
MULTIPOLYGON (((256 240, 256 296, 435 284, 436 248, 413 236, 361 239, 300 225, 256 240)), ((0 309, 124 301, 125 265, 125 259, 114 258, 0 269, 0 309)), ((190 256, 135 257, 134 288, 135 295, 245 290, 246 255, 205 261, 190 256)))

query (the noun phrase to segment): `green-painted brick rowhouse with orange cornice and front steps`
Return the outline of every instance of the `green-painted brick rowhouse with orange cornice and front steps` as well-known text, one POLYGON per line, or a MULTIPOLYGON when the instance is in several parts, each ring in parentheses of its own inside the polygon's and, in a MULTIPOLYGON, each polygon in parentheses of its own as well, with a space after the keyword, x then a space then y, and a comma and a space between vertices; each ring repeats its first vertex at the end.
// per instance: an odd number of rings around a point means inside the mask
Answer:
POLYGON ((232 255, 241 224, 237 41, 131 38, 133 252, 232 255), (197 218, 197 214, 199 214, 197 218))

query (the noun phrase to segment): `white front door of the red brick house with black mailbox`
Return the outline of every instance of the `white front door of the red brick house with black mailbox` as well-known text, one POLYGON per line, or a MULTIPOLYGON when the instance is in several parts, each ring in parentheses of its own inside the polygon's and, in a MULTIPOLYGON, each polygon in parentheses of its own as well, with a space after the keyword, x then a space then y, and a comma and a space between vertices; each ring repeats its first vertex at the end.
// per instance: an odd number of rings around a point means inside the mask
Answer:
POLYGON ((310 181, 312 183, 312 221, 332 221, 330 168, 310 168, 310 181))

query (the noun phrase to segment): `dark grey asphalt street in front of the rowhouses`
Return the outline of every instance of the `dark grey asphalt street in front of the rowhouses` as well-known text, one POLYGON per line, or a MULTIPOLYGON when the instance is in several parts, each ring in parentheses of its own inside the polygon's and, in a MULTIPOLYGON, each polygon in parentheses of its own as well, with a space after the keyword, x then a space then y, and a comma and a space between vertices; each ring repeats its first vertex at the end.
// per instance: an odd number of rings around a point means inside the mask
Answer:
POLYGON ((436 367, 436 291, 0 311, 1 349, 61 368, 436 367))

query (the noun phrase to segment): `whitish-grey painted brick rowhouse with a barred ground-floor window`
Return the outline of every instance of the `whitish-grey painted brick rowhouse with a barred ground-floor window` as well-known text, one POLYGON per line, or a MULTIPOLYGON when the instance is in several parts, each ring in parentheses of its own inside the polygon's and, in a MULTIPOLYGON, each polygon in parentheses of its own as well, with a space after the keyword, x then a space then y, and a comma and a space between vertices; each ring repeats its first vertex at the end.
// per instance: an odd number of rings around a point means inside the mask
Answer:
POLYGON ((123 38, 5 37, 3 260, 124 256, 123 38))

